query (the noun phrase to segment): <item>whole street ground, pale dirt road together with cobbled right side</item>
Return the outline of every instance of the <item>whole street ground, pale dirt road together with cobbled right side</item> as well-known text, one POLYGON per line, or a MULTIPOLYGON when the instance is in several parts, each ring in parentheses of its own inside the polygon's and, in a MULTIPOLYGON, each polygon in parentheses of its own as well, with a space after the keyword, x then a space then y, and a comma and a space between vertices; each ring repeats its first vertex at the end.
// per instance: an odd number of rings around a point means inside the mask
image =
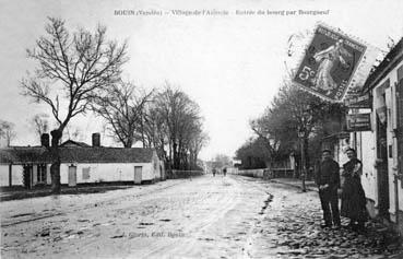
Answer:
POLYGON ((320 228, 316 191, 240 176, 0 204, 1 258, 403 257, 376 224, 320 228))

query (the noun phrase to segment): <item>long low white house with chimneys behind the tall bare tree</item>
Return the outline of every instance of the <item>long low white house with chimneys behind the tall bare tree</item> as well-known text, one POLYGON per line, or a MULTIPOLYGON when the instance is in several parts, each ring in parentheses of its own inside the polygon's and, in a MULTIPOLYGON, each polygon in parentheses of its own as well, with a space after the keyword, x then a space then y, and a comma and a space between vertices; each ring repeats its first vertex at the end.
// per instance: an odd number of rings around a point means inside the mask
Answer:
MULTIPOLYGON (((59 148, 59 154, 62 185, 165 179, 164 163, 154 149, 90 146, 68 141, 59 148)), ((50 185, 54 160, 46 145, 0 149, 0 186, 50 185)))

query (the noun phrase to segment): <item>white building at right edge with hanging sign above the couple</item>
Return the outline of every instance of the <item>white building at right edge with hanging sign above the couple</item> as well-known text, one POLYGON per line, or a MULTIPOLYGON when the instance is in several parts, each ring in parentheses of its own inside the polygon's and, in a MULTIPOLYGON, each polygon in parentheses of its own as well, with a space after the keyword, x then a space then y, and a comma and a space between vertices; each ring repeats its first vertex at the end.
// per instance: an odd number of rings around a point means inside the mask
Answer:
POLYGON ((364 86, 372 96, 371 130, 351 134, 363 161, 361 183, 372 216, 403 233, 403 39, 386 56, 364 86))

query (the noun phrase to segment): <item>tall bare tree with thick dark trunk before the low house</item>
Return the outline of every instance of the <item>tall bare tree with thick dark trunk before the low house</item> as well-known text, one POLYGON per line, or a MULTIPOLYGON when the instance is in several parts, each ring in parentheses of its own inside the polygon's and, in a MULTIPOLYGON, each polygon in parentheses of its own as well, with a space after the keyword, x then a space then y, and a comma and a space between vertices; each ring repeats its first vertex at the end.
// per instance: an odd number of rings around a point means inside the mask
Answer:
POLYGON ((88 110, 97 91, 116 83, 128 60, 127 44, 106 39, 106 27, 94 33, 79 28, 70 33, 60 19, 49 17, 46 35, 27 49, 28 58, 38 62, 34 74, 22 80, 23 94, 47 104, 58 122, 51 131, 55 162, 51 166, 52 192, 60 192, 58 144, 70 120, 88 110))

